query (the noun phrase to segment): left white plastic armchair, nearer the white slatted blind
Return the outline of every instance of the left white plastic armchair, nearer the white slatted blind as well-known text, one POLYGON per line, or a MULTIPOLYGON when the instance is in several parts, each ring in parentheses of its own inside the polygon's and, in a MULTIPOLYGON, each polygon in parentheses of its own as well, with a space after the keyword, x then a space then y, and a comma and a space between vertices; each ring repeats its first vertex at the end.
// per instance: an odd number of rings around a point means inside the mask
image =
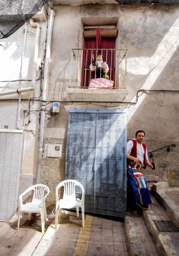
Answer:
POLYGON ((20 196, 19 196, 19 211, 18 211, 18 222, 17 222, 17 230, 19 230, 19 223, 20 223, 20 212, 28 212, 28 220, 31 220, 31 213, 32 212, 39 212, 41 217, 41 231, 44 233, 45 230, 45 221, 47 219, 47 210, 45 199, 49 194, 49 188, 43 184, 37 184, 29 187, 26 189, 20 196), (33 192, 32 201, 26 204, 23 204, 23 196, 28 193, 29 191, 33 192), (44 196, 44 192, 47 194, 44 196))

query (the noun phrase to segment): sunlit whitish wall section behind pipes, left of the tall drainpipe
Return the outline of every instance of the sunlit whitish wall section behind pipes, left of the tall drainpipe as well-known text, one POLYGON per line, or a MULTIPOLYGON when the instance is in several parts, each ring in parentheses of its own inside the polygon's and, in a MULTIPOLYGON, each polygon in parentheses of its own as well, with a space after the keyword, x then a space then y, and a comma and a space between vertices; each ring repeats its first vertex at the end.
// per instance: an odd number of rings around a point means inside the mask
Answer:
MULTIPOLYGON (((42 17, 41 17, 42 18, 42 17)), ((39 20, 35 20, 39 22, 39 20)), ((37 64, 37 75, 39 78, 40 72, 38 66, 43 61, 44 56, 44 42, 46 37, 47 22, 41 22, 40 30, 40 42, 39 42, 39 55, 37 64)), ((0 81, 18 80, 18 79, 32 79, 33 59, 35 49, 35 37, 36 28, 32 27, 27 22, 27 37, 25 54, 23 58, 21 77, 20 67, 23 54, 24 44, 24 29, 22 26, 10 37, 1 39, 0 41, 0 81)), ((20 82, 4 82, 0 83, 0 92, 18 89, 20 82)), ((22 88, 31 87, 30 81, 22 81, 22 88)), ((31 97, 39 97, 40 95, 40 80, 36 81, 36 88, 34 91, 21 94, 21 103, 29 105, 29 101, 23 101, 23 99, 29 99, 31 97)), ((17 129, 18 118, 18 102, 19 94, 10 94, 6 96, 0 96, 0 128, 4 128, 4 125, 8 126, 8 129, 17 129)), ((35 110, 40 109, 40 102, 31 101, 31 112, 27 116, 23 109, 20 110, 19 129, 25 130, 23 132, 23 148, 21 158, 21 170, 19 179, 19 195, 25 191, 31 185, 36 183, 36 171, 37 171, 37 154, 39 143, 39 112, 35 110), (27 117, 25 117, 27 116, 27 117), (31 123, 28 124, 28 120, 31 123)), ((21 105, 22 106, 22 105, 21 105)), ((27 111, 28 112, 28 111, 27 111)))

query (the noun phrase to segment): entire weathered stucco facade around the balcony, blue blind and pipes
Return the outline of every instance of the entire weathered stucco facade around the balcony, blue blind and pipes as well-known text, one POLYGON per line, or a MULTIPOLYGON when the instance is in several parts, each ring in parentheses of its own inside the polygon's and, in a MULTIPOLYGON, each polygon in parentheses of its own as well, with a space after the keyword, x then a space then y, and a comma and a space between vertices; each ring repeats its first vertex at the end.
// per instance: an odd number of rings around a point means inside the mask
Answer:
MULTIPOLYGON (((147 90, 178 90, 179 72, 179 7, 176 6, 131 6, 119 4, 87 4, 87 5, 55 5, 56 16, 52 34, 52 55, 49 74, 48 101, 69 101, 67 93, 69 84, 71 49, 81 48, 83 42, 83 25, 117 24, 118 37, 116 48, 128 49, 127 89, 128 95, 123 103, 65 103, 60 105, 60 113, 54 117, 46 113, 44 143, 63 143, 62 158, 42 159, 41 182, 47 184, 51 194, 47 206, 53 209, 55 202, 55 187, 65 177, 65 141, 67 137, 68 110, 77 109, 118 109, 127 111, 128 139, 133 138, 136 130, 144 129, 148 151, 166 144, 179 141, 179 94, 177 93, 144 93, 135 105, 125 102, 136 100, 140 89, 147 90), (113 107, 112 107, 113 106, 113 107)), ((43 59, 46 37, 46 22, 41 23, 39 64, 43 59)), ((1 74, 0 80, 19 78, 21 54, 23 50, 24 27, 7 39, 3 39, 0 47, 1 74)), ((33 64, 33 49, 36 29, 29 26, 32 33, 27 34, 27 45, 23 65, 23 78, 31 79, 33 64)), ((37 71, 38 74, 38 71, 37 71)), ((37 75, 38 76, 38 75, 37 75)), ((1 91, 18 88, 19 83, 1 83, 1 91)), ((23 82, 23 87, 30 82, 23 82)), ((40 82, 36 83, 36 91, 22 94, 22 98, 38 97, 40 82)), ((140 95, 140 93, 139 93, 140 95)), ((18 95, 6 96, 3 99, 18 99, 18 95)), ((76 99, 80 100, 81 96, 76 99)), ((99 95, 103 101, 103 95, 99 95)), ((110 101, 110 97, 109 97, 110 101)), ((51 107, 48 102, 47 109, 51 107)), ((0 128, 8 125, 16 129, 18 102, 0 102, 0 128)), ((31 108, 40 109, 39 103, 31 108)), ((38 153, 39 112, 31 112, 31 123, 24 124, 24 112, 20 113, 20 128, 33 131, 24 132, 24 154, 21 171, 21 183, 33 184, 35 181, 38 153), (24 176, 23 176, 24 175, 24 176)), ((25 122, 28 117, 25 118, 25 122)), ((178 147, 155 154, 157 170, 155 176, 162 179, 168 165, 178 163, 178 147)), ((153 175, 146 169, 146 175, 153 175)), ((26 185, 27 185, 26 184, 26 185)), ((22 189, 22 187, 21 187, 22 189)))

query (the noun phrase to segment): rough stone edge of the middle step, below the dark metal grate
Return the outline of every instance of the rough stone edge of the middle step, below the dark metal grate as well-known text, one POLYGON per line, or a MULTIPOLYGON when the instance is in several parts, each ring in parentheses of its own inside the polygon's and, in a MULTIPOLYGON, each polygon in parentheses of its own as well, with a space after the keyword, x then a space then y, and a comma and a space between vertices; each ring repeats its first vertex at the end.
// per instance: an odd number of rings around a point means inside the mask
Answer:
POLYGON ((154 220, 158 220, 158 217, 156 216, 154 211, 152 211, 151 208, 149 208, 147 211, 143 210, 143 218, 147 224, 148 229, 150 230, 150 233, 152 234, 152 237, 155 241, 158 251, 160 252, 160 255, 178 256, 178 245, 174 242, 174 240, 172 240, 172 238, 170 237, 170 233, 160 232, 157 229, 154 220))

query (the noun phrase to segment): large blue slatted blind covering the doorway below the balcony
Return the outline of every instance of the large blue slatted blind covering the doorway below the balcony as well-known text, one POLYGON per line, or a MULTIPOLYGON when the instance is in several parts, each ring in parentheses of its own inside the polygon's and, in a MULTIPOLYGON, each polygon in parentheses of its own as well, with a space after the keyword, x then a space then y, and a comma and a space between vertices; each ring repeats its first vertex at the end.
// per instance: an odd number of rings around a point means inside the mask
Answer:
POLYGON ((83 185, 85 211, 124 218, 126 148, 126 113, 70 110, 65 179, 83 185))

